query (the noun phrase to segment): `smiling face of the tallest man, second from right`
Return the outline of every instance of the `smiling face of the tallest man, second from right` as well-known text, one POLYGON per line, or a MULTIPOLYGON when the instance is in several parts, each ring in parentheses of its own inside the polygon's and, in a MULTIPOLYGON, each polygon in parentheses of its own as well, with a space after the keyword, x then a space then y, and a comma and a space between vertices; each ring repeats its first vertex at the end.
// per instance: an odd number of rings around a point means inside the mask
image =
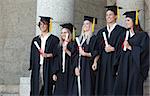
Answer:
POLYGON ((113 11, 108 10, 106 12, 106 22, 107 23, 115 23, 116 19, 117 19, 117 15, 115 15, 113 11))

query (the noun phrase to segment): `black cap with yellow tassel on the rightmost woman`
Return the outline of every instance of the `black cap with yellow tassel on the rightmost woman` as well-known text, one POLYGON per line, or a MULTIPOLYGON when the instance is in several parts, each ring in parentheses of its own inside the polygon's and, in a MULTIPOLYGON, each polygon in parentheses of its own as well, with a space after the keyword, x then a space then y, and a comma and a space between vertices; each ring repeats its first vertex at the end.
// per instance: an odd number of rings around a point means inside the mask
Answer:
POLYGON ((126 17, 131 18, 135 22, 135 25, 138 25, 139 11, 140 10, 138 9, 136 11, 127 11, 123 15, 126 15, 126 17))

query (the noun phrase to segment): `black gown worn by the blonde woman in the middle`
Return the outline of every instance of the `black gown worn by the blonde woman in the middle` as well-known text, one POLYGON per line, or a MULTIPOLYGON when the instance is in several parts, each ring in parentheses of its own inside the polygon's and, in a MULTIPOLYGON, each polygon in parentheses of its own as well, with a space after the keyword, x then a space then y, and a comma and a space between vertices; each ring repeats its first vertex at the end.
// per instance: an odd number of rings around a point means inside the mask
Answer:
MULTIPOLYGON (((96 44, 96 36, 92 36, 90 39, 89 44, 86 44, 86 41, 83 43, 82 48, 84 49, 85 52, 90 52, 92 57, 84 57, 81 56, 80 59, 80 78, 81 78, 81 95, 82 96, 91 96, 92 95, 92 76, 91 76, 91 66, 93 64, 93 59, 96 56, 96 52, 93 50, 95 49, 95 44, 96 44)), ((78 67, 78 60, 79 60, 79 50, 78 46, 75 43, 74 44, 74 49, 72 53, 72 59, 71 62, 73 63, 73 72, 75 71, 75 67, 78 67)), ((75 76, 75 75, 74 75, 75 76)), ((78 86, 77 86, 77 76, 74 77, 72 88, 70 90, 70 94, 73 96, 78 96, 78 86)))

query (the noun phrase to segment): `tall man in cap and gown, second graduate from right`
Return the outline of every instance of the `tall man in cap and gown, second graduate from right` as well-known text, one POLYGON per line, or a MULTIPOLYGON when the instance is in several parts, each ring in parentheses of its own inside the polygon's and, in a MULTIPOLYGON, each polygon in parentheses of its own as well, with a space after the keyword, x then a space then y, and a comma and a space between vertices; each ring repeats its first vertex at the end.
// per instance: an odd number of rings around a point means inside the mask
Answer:
POLYGON ((121 50, 126 29, 116 23, 118 6, 106 6, 107 26, 100 29, 97 33, 97 46, 99 59, 97 61, 96 92, 99 95, 112 95, 115 82, 114 65, 117 55, 121 50), (106 34, 108 44, 103 38, 106 34), (106 46, 107 45, 107 46, 106 46))

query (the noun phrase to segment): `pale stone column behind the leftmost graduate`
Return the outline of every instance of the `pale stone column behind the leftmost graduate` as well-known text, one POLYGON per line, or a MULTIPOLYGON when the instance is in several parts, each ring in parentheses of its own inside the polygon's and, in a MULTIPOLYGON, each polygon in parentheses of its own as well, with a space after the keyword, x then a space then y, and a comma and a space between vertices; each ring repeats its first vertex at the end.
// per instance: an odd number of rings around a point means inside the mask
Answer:
MULTIPOLYGON (((52 33, 56 36, 60 34, 60 24, 73 23, 74 0, 37 0, 37 19, 39 16, 50 16, 53 18, 52 33)), ((36 27, 36 35, 39 34, 39 28, 36 27)))

